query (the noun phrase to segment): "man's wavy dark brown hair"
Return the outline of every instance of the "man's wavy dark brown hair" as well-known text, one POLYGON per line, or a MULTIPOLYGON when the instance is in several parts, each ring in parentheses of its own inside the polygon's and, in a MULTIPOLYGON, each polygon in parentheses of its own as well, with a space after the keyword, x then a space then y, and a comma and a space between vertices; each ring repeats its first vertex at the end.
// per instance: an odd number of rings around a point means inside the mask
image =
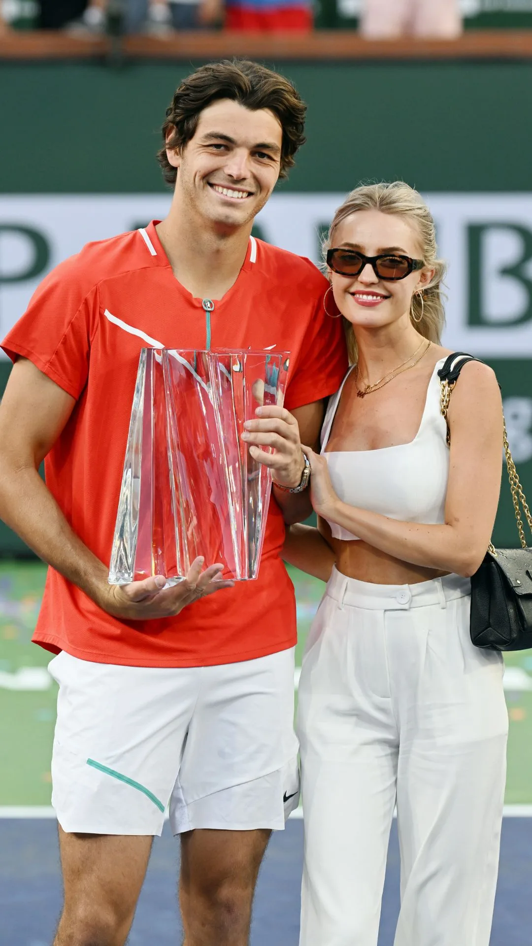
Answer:
POLYGON ((224 60, 196 69, 174 93, 163 125, 165 145, 157 154, 165 181, 175 184, 177 176, 177 168, 168 161, 167 148, 183 149, 195 134, 200 113, 219 98, 230 98, 252 112, 269 109, 275 114, 282 128, 279 177, 286 177, 296 150, 305 142, 307 106, 289 79, 266 66, 248 60, 224 60))

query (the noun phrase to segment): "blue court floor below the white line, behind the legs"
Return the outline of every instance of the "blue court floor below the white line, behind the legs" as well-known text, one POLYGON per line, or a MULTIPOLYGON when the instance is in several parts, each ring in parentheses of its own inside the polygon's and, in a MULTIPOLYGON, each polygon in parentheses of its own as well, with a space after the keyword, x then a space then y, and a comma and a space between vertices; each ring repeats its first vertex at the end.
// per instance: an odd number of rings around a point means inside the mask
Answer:
MULTIPOLYGON (((297 946, 302 850, 303 823, 291 819, 285 832, 274 833, 260 872, 252 946, 297 946)), ((175 892, 178 853, 179 845, 168 831, 167 823, 163 836, 154 841, 129 946, 177 946, 180 942, 181 924, 175 892)), ((490 946, 531 946, 530 877, 532 818, 505 817, 490 946)), ((0 820, 2 946, 50 946, 60 907, 55 821, 51 818, 0 820)), ((398 909, 399 850, 394 823, 379 946, 393 946, 398 909)), ((452 903, 449 909, 452 910, 452 903)))

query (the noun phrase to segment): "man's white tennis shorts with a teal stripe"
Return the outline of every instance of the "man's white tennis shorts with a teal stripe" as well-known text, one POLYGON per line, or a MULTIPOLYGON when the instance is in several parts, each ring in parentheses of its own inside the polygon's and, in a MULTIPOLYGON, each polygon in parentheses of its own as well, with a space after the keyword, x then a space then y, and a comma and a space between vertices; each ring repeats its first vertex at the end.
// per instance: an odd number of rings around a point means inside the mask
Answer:
POLYGON ((299 801, 293 648, 215 667, 62 652, 52 804, 65 832, 282 829, 299 801))

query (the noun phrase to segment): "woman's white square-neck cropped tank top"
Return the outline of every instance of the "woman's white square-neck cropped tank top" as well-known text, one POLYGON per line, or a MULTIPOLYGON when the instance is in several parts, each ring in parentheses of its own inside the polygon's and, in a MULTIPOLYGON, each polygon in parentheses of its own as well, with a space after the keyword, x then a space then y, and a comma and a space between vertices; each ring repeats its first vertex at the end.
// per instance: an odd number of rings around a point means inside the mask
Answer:
MULTIPOLYGON (((445 359, 434 365, 421 423, 414 440, 375 450, 331 450, 325 453, 334 414, 346 378, 333 394, 322 428, 321 452, 328 462, 334 491, 349 506, 358 506, 403 522, 443 523, 449 479, 447 425, 440 412, 437 377, 445 359)), ((354 367, 354 366, 353 366, 354 367)), ((333 538, 358 539, 335 522, 328 523, 333 538)))

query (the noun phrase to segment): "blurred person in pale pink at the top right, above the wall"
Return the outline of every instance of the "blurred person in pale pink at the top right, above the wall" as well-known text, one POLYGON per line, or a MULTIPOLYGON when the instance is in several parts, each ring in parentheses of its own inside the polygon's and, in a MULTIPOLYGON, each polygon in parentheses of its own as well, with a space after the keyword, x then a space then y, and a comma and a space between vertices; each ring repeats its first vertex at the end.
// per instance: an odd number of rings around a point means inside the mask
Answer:
POLYGON ((360 32, 369 40, 452 40, 462 32, 462 17, 458 0, 364 0, 360 32))

